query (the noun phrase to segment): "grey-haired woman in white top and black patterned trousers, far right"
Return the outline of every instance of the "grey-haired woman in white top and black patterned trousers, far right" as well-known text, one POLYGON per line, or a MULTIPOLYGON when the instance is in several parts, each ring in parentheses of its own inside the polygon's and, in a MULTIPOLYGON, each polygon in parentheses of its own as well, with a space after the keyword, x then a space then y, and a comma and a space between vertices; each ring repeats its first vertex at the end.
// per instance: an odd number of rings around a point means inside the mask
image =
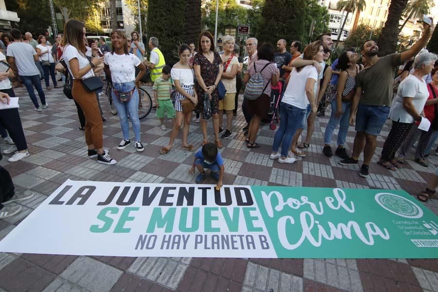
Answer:
POLYGON ((386 169, 396 170, 401 167, 395 161, 395 153, 402 145, 414 122, 421 121, 424 104, 429 97, 423 76, 429 74, 434 66, 437 55, 423 53, 414 61, 414 73, 407 76, 399 85, 396 101, 391 111, 392 128, 383 145, 382 155, 378 164, 386 169))

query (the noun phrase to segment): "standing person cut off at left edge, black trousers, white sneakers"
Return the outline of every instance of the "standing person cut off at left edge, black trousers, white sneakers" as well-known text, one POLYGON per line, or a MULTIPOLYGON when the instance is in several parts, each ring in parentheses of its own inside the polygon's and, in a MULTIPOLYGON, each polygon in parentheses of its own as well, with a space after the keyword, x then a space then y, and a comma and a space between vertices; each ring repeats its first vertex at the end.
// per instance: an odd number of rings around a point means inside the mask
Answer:
MULTIPOLYGON (((0 53, 0 62, 5 62, 5 56, 0 53)), ((0 91, 7 93, 10 97, 15 97, 14 90, 12 90, 11 81, 9 78, 13 77, 14 73, 11 69, 7 72, 0 73, 0 91)), ((24 137, 23 127, 21 126, 21 119, 18 113, 18 108, 5 109, 6 104, 0 104, 0 128, 4 128, 9 132, 12 141, 15 145, 3 150, 3 154, 11 154, 12 157, 8 159, 9 162, 16 162, 29 156, 27 151, 26 138, 24 137)))

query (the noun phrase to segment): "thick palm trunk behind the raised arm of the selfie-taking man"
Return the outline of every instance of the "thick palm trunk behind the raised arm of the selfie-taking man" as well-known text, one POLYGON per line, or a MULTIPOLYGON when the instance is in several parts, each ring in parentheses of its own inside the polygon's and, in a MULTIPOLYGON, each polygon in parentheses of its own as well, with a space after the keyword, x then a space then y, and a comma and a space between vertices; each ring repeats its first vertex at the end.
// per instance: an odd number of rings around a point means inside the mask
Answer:
POLYGON ((379 45, 379 56, 392 54, 397 50, 397 39, 399 37, 399 20, 408 0, 391 0, 388 9, 388 18, 382 29, 377 44, 379 45))

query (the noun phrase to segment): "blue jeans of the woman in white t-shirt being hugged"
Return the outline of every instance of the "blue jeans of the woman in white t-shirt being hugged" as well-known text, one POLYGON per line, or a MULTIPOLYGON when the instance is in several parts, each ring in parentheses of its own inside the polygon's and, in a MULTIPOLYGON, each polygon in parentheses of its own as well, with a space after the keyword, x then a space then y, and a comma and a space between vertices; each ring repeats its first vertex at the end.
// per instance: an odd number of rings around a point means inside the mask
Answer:
POLYGON ((280 103, 280 128, 275 133, 273 152, 278 152, 281 141, 281 156, 287 157, 292 145, 292 138, 298 129, 299 123, 303 120, 306 110, 299 109, 287 103, 280 103))

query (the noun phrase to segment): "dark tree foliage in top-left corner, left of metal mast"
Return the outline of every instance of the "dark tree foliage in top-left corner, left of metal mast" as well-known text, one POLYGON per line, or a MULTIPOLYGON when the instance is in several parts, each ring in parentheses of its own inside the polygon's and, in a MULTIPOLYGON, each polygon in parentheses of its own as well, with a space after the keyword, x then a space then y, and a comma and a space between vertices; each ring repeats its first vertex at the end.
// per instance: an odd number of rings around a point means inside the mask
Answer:
POLYGON ((34 37, 43 35, 52 24, 47 1, 5 0, 5 4, 9 11, 17 12, 20 21, 12 25, 23 33, 31 32, 34 37))

